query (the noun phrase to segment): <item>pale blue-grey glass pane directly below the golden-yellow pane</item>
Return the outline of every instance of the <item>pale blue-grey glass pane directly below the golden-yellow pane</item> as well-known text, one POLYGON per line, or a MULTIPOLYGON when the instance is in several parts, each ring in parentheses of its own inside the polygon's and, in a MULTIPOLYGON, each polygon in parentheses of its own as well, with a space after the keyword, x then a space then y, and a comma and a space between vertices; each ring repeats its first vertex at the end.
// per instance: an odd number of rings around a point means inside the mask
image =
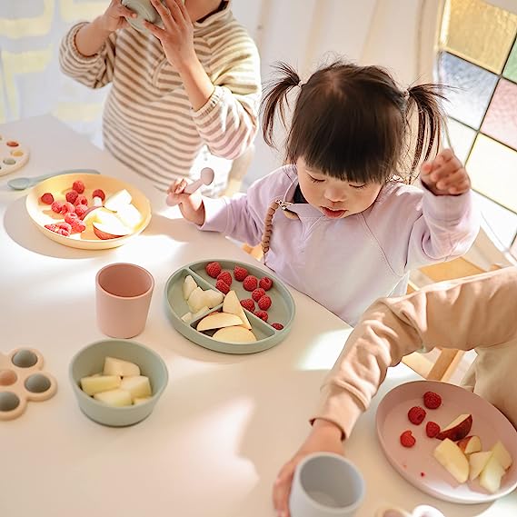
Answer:
POLYGON ((497 75, 446 52, 439 56, 438 66, 439 81, 453 87, 445 92, 449 101, 444 103, 445 111, 463 124, 478 129, 497 83, 497 75))

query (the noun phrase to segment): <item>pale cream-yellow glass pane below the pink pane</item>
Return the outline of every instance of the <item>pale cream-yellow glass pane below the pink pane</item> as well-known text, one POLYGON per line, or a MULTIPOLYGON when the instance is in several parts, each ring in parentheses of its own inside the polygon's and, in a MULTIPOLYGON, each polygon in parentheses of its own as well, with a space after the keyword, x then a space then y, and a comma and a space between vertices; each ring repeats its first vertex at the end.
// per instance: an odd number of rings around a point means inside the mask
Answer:
POLYGON ((478 134, 467 170, 474 190, 517 212, 517 152, 478 134))

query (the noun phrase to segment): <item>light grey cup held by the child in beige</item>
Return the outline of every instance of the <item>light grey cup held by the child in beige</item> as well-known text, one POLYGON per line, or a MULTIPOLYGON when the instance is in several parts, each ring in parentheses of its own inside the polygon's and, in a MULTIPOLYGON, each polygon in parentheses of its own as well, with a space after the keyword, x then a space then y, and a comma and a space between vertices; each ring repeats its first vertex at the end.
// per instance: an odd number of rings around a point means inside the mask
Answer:
POLYGON ((294 472, 291 517, 352 517, 363 502, 364 480, 339 454, 316 452, 294 472))

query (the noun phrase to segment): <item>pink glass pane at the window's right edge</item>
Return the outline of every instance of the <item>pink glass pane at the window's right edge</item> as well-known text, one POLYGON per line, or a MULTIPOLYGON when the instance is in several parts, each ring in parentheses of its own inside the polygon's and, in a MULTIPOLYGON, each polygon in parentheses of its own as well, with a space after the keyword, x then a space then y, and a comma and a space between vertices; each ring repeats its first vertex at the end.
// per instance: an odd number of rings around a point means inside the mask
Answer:
POLYGON ((488 106, 482 132, 517 149, 517 85, 502 79, 488 106))

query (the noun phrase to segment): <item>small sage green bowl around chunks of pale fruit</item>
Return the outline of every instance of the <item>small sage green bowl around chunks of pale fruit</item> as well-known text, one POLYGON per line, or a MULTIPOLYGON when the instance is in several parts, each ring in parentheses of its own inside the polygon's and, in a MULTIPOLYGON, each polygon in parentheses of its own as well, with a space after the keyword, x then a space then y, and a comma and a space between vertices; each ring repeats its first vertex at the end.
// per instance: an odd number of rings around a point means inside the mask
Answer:
POLYGON ((72 358, 69 374, 81 411, 94 422, 112 427, 139 423, 153 413, 154 405, 164 393, 169 378, 164 360, 157 353, 143 344, 122 339, 107 339, 85 346, 72 358), (83 392, 79 384, 81 378, 102 372, 107 355, 138 364, 142 375, 149 377, 151 383, 153 395, 148 401, 114 407, 96 401, 83 392))

